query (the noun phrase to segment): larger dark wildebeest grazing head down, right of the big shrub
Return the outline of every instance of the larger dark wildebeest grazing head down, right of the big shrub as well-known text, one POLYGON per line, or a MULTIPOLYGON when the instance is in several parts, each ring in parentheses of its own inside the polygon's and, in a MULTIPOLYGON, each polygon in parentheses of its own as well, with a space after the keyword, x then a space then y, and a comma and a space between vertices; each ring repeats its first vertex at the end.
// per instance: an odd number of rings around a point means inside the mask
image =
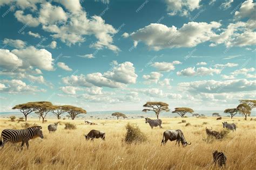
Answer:
POLYGON ((183 146, 191 145, 191 142, 190 144, 187 143, 181 130, 165 131, 163 134, 163 140, 161 141, 161 145, 165 145, 167 140, 171 140, 171 141, 176 140, 176 145, 177 145, 177 142, 178 142, 178 145, 180 142, 183 146))

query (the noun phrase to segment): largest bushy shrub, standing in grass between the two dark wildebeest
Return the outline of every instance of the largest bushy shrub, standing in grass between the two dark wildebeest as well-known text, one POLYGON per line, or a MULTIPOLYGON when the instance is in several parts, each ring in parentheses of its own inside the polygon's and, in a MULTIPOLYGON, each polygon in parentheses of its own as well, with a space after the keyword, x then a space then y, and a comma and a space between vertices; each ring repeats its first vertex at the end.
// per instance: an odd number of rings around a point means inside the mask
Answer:
POLYGON ((147 140, 146 135, 140 131, 138 125, 127 124, 125 126, 126 134, 125 134, 125 142, 127 144, 131 143, 140 143, 147 140))

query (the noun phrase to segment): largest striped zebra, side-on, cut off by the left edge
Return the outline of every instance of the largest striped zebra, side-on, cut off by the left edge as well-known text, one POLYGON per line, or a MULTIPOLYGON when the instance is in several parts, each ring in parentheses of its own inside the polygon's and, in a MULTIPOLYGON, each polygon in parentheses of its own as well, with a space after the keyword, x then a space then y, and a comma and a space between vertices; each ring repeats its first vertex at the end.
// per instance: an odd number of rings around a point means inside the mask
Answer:
POLYGON ((33 126, 24 130, 3 130, 1 134, 0 146, 4 147, 7 142, 17 143, 22 142, 21 147, 26 144, 29 148, 29 140, 37 137, 44 138, 42 126, 33 126), (3 141, 2 141, 3 139, 3 141))

